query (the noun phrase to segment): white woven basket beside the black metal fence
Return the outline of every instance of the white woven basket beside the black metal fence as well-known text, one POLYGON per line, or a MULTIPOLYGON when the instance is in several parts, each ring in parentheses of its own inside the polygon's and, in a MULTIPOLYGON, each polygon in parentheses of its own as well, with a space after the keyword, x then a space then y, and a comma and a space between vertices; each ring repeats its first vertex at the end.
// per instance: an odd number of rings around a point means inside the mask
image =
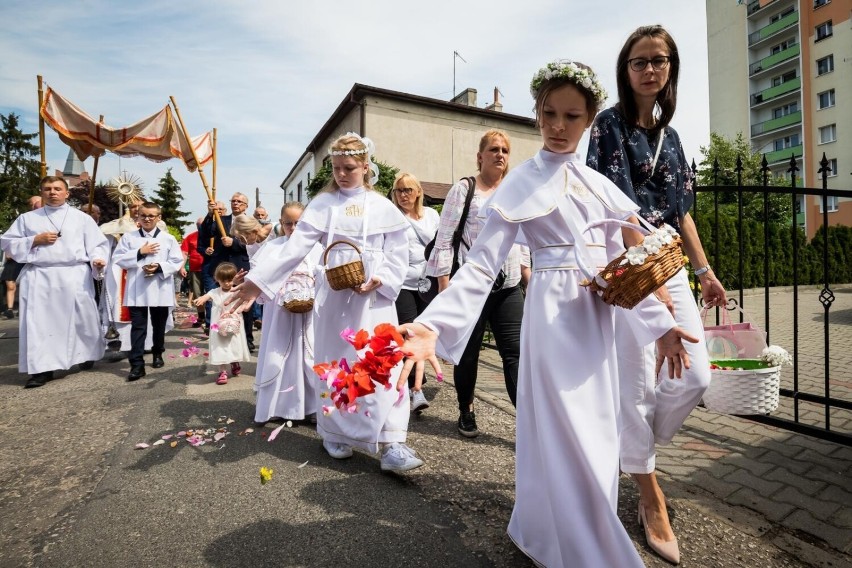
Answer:
MULTIPOLYGON (((746 360, 747 361, 747 360, 746 360)), ((769 414, 778 408, 781 368, 710 371, 704 406, 721 414, 769 414)))

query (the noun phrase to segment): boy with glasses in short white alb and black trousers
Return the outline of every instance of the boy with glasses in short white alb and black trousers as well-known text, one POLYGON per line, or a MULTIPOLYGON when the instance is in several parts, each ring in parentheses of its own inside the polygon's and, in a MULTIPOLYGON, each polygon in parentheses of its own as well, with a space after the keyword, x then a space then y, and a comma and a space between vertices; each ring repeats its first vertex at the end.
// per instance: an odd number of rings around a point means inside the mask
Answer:
POLYGON ((162 367, 166 320, 175 305, 174 274, 183 267, 180 245, 160 230, 160 206, 146 201, 139 206, 139 230, 125 233, 113 253, 114 262, 127 270, 124 305, 130 309, 130 374, 128 381, 145 376, 145 336, 151 314, 153 342, 151 366, 162 367))

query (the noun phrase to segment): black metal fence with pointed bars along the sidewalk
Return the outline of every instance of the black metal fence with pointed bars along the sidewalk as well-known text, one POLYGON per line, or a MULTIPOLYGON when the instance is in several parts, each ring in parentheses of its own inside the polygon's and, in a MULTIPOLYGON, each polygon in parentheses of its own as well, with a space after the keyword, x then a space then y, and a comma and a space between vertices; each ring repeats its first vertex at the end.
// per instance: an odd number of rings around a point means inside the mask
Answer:
MULTIPOLYGON (((852 336, 852 325, 849 325, 850 322, 847 321, 848 312, 850 310, 845 308, 845 304, 840 312, 837 310, 834 312, 832 311, 838 297, 835 295, 836 290, 832 290, 832 285, 830 284, 833 277, 829 271, 830 258, 827 231, 825 238, 822 239, 822 283, 817 285, 821 286, 821 289, 818 289, 817 293, 817 290, 815 290, 813 286, 810 286, 809 289, 813 290, 813 293, 805 294, 803 293, 804 290, 800 284, 800 229, 798 227, 796 215, 799 197, 816 196, 821 200, 821 225, 823 227, 828 227, 829 198, 849 197, 852 195, 852 191, 849 190, 828 189, 829 162, 826 160, 825 156, 823 156, 820 165, 821 168, 819 172, 822 176, 822 187, 808 188, 799 187, 799 179, 796 175, 799 168, 795 157, 791 157, 789 169, 787 170, 790 174, 790 184, 789 186, 784 187, 769 185, 770 169, 765 157, 763 160, 763 184, 760 186, 743 185, 743 168, 742 162, 739 159, 737 160, 737 166, 735 168, 737 176, 736 186, 716 185, 721 172, 718 163, 714 164, 714 185, 697 187, 696 193, 699 195, 701 193, 710 193, 713 195, 710 224, 716 230, 714 234, 718 234, 717 230, 720 223, 720 198, 727 195, 728 201, 730 201, 732 194, 736 197, 738 211, 736 227, 738 236, 737 242, 739 244, 737 265, 724 266, 722 264, 722 255, 719 250, 719 239, 715 239, 708 243, 707 235, 702 235, 701 237, 705 249, 709 252, 711 263, 714 266, 714 271, 717 274, 732 275, 733 278, 731 278, 731 280, 743 282, 745 268, 745 245, 744 239, 742 238, 744 234, 744 197, 749 194, 753 194, 762 198, 764 219, 769 219, 769 196, 773 194, 789 196, 791 210, 793 211, 791 216, 792 218, 789 221, 789 234, 793 250, 791 283, 792 294, 787 294, 783 297, 785 298, 785 301, 791 298, 792 306, 771 305, 773 289, 769 284, 770 255, 768 254, 768 250, 764 250, 764 254, 762 255, 764 260, 762 319, 766 326, 764 329, 768 334, 767 342, 770 342, 770 338, 776 336, 783 336, 787 341, 791 341, 792 350, 790 353, 793 356, 793 365, 790 371, 784 372, 791 373, 792 376, 785 375, 785 378, 782 380, 782 404, 779 407, 778 413, 773 413, 771 416, 748 416, 748 418, 757 422, 812 435, 844 445, 852 445, 852 428, 850 428, 850 426, 852 426, 852 388, 850 388, 852 387, 852 383, 849 381, 849 377, 852 376, 852 371, 850 371, 846 366, 848 365, 847 358, 849 357, 849 353, 846 349, 843 349, 843 347, 845 347, 844 343, 848 342, 850 336, 852 336), (810 302, 809 304, 802 304, 801 297, 803 296, 808 297, 808 301, 810 302), (815 302, 818 302, 820 306, 815 306, 815 302), (772 310, 780 311, 789 309, 790 307, 792 308, 791 316, 784 318, 781 322, 778 322, 777 317, 774 318, 776 327, 773 328, 773 318, 771 317, 773 315, 772 310), (811 319, 807 321, 803 320, 801 318, 801 314, 803 312, 813 314, 811 319), (821 318, 819 318, 820 312, 821 318), (821 319, 821 321, 814 321, 817 319, 821 319), (821 328, 821 330, 811 329, 812 332, 803 338, 802 328, 804 325, 811 326, 811 328, 816 325, 821 328), (817 333, 813 333, 813 331, 817 331, 817 333), (819 331, 821 331, 821 333, 819 333, 819 331), (817 336, 821 337, 817 339, 817 336), (835 344, 843 346, 837 353, 832 351, 832 346, 835 344), (841 362, 843 363, 842 365, 841 362), (822 368, 819 369, 819 366, 822 368), (835 375, 834 379, 832 378, 832 374, 835 375)), ((694 162, 692 167, 693 170, 695 170, 694 162)), ((696 207, 692 214, 693 217, 697 217, 699 215, 698 199, 696 199, 696 207)), ((698 222, 697 218, 696 222, 698 222)), ((764 247, 768 247, 770 224, 765 222, 763 225, 765 230, 764 247)), ((724 278, 722 278, 722 283, 726 284, 724 278)), ((835 286, 838 286, 838 284, 835 284, 835 286)), ((757 292, 759 292, 759 290, 757 292)), ((760 294, 747 294, 745 290, 740 289, 733 294, 729 291, 729 296, 735 296, 734 298, 729 298, 728 309, 733 310, 737 306, 745 307, 746 297, 752 298, 757 296, 759 298, 760 294)), ((843 300, 844 302, 846 301, 846 295, 844 295, 843 300)), ((750 306, 749 309, 751 309, 752 313, 754 313, 754 306, 750 306)), ((740 314, 742 314, 742 312, 740 312, 740 314)), ((717 318, 718 316, 719 314, 717 313, 717 318)), ((739 321, 743 321, 742 315, 740 316, 739 321)), ((852 345, 852 343, 849 343, 849 345, 852 345)))

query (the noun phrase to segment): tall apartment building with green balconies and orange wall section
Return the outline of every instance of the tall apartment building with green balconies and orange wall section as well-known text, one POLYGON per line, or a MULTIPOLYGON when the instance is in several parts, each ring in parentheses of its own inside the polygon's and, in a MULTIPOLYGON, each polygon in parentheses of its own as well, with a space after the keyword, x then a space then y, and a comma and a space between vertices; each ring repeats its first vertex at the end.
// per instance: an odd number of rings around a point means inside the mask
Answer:
MULTIPOLYGON (((742 132, 775 175, 850 191, 829 197, 829 224, 852 225, 852 0, 706 0, 710 130, 742 132)), ((809 236, 822 201, 801 197, 809 236)))

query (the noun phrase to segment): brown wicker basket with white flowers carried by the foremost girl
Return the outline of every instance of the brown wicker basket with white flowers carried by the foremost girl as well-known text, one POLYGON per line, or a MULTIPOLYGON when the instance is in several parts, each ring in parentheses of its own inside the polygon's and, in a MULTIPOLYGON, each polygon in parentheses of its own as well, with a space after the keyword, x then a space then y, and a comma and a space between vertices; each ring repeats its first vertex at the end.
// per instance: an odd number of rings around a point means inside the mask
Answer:
MULTIPOLYGON (((638 225, 633 227, 647 232, 638 225)), ((625 262, 625 252, 607 264, 587 285, 593 292, 600 293, 607 304, 632 309, 683 268, 682 245, 680 235, 672 235, 669 244, 649 254, 642 264, 625 262), (598 279, 604 280, 606 285, 599 283, 598 279)))

